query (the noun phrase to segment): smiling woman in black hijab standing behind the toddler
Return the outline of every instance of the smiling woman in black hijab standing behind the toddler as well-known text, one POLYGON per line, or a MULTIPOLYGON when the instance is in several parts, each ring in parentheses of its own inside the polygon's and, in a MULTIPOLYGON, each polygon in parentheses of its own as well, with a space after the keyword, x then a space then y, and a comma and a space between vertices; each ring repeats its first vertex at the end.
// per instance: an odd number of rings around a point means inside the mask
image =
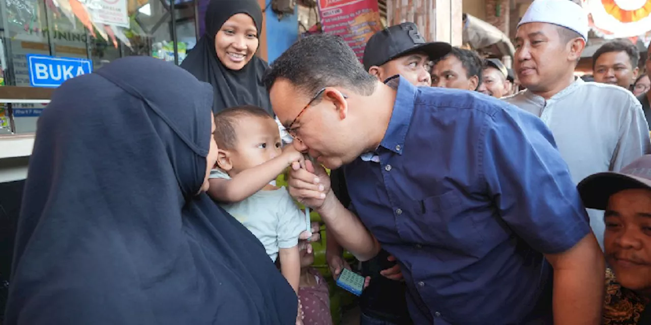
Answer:
POLYGON ((262 32, 257 0, 212 0, 206 10, 206 32, 183 60, 181 68, 215 90, 212 111, 256 105, 273 116, 262 85, 267 62, 255 56, 262 32))

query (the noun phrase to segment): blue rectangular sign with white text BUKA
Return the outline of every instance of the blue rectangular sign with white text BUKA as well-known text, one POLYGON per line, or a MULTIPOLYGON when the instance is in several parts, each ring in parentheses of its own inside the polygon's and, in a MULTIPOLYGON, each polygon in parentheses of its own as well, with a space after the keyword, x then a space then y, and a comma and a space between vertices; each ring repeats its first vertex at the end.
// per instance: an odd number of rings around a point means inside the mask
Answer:
POLYGON ((89 59, 59 58, 48 55, 28 54, 29 85, 55 88, 77 75, 92 72, 89 59))

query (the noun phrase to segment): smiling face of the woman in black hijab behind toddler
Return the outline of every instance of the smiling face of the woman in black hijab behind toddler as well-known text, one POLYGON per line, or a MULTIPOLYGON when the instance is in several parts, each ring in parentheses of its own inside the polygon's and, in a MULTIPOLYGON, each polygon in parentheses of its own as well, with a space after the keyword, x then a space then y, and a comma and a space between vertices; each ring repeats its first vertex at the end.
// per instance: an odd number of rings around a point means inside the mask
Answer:
POLYGON ((230 16, 215 34, 217 59, 230 70, 240 70, 258 50, 258 29, 247 14, 230 16))

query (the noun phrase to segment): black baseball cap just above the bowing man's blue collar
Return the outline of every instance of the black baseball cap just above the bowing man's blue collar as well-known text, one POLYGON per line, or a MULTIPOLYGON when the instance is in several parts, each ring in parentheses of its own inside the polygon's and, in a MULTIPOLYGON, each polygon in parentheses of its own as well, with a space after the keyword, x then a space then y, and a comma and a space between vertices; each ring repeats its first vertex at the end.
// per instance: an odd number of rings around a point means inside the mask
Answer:
POLYGON ((362 62, 364 68, 381 66, 413 52, 423 52, 436 60, 452 51, 445 42, 425 42, 415 23, 401 23, 376 32, 368 39, 362 62))

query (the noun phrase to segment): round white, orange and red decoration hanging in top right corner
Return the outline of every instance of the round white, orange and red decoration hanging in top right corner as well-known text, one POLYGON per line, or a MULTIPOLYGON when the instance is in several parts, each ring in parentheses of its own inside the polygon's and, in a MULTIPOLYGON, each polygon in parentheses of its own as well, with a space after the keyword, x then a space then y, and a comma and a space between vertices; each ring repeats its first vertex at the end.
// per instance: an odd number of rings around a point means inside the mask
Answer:
POLYGON ((582 0, 592 31, 602 38, 630 38, 651 31, 651 0, 582 0))

